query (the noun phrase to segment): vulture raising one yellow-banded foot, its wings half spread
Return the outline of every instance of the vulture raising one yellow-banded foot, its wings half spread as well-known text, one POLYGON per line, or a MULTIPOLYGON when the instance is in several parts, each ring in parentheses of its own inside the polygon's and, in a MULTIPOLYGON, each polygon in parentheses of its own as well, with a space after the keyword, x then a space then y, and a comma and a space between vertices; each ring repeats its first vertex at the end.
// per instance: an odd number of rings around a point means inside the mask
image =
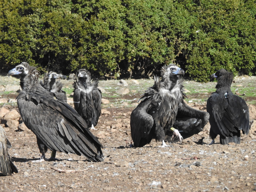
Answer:
MULTIPOLYGON (((173 142, 182 141, 196 134, 208 122, 209 114, 189 107, 183 100, 185 93, 181 75, 184 70, 174 64, 164 66, 161 77, 155 77, 155 83, 149 87, 141 102, 131 113, 131 133, 135 147, 143 147, 152 139, 173 142), (182 136, 183 135, 183 136, 182 136)), ((139 101, 140 101, 139 100, 139 101)))

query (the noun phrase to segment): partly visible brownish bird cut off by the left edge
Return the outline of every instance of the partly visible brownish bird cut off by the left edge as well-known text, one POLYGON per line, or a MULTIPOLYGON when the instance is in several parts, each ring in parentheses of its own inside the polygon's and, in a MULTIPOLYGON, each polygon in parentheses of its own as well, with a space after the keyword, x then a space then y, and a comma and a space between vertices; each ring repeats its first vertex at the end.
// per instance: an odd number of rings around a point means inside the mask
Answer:
POLYGON ((8 148, 11 148, 11 143, 6 138, 6 133, 0 125, 0 175, 4 176, 11 175, 13 172, 18 173, 8 154, 8 148))

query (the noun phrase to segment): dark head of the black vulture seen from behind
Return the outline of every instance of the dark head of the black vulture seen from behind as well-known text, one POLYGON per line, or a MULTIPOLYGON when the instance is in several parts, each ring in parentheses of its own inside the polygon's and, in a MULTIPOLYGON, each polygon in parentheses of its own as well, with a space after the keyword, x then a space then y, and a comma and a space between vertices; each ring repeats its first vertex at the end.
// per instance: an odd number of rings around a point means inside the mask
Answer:
POLYGON ((232 84, 234 75, 232 72, 228 72, 225 69, 220 69, 216 73, 212 74, 211 78, 216 78, 219 85, 230 87, 232 84))

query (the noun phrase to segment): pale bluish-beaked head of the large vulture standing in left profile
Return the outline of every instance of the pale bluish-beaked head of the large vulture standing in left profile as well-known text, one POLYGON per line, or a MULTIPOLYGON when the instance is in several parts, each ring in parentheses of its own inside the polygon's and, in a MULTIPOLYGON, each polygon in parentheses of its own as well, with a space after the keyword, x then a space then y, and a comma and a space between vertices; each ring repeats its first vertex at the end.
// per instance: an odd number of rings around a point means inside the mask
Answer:
POLYGON ((37 79, 39 77, 39 72, 36 68, 29 66, 26 62, 20 63, 8 72, 8 76, 15 76, 17 78, 24 78, 28 74, 33 74, 37 79))

